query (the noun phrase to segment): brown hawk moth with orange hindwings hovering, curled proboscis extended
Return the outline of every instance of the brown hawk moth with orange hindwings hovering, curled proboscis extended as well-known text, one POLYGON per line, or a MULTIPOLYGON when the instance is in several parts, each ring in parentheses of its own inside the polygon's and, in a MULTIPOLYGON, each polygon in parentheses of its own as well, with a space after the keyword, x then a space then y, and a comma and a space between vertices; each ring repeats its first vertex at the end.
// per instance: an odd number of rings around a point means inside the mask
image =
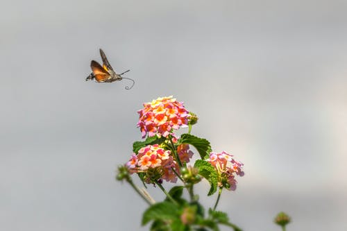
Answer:
MULTIPOLYGON (((123 78, 125 78, 122 77, 122 75, 130 71, 127 70, 121 74, 117 74, 116 71, 111 67, 110 62, 108 62, 108 59, 106 58, 106 55, 105 53, 103 53, 102 49, 100 49, 100 55, 101 59, 103 60, 103 65, 101 66, 99 62, 92 60, 92 62, 90 62, 92 73, 85 79, 86 81, 95 79, 97 83, 112 83, 122 80, 123 78)), ((130 87, 126 86, 126 89, 131 89, 131 87, 134 86, 135 81, 131 78, 126 79, 133 81, 133 85, 131 85, 130 87)))

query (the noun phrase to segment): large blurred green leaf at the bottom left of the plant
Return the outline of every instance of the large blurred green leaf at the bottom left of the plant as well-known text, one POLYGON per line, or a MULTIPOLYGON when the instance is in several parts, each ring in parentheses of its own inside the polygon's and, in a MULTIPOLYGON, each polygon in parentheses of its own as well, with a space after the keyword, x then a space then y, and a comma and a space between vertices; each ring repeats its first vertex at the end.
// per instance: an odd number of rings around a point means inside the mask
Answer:
POLYGON ((149 221, 162 220, 174 221, 177 218, 178 207, 173 203, 164 201, 151 205, 142 216, 142 225, 146 225, 149 221))

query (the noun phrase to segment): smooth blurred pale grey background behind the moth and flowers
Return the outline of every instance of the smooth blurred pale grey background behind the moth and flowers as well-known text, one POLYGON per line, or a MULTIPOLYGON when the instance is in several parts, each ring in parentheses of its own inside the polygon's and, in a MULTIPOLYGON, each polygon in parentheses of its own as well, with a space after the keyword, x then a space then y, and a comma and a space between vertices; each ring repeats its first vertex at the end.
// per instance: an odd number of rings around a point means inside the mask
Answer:
POLYGON ((115 169, 141 138, 142 103, 169 95, 198 114, 194 135, 244 162, 219 204, 232 222, 279 230, 283 210, 287 230, 346 230, 346 12, 338 0, 2 1, 0 230, 148 230, 115 169), (85 82, 99 48, 133 89, 85 82))

